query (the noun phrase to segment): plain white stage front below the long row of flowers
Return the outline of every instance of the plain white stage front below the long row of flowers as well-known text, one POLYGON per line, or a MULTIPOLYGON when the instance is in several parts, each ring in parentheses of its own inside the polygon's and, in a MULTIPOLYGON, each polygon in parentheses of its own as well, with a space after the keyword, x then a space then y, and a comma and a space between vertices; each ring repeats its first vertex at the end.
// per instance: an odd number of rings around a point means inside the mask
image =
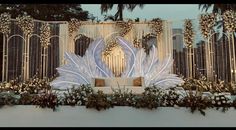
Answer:
POLYGON ((1 127, 235 127, 236 110, 226 113, 208 109, 206 116, 187 108, 160 107, 154 110, 114 107, 97 111, 85 106, 60 106, 52 109, 33 105, 4 106, 0 109, 1 127))

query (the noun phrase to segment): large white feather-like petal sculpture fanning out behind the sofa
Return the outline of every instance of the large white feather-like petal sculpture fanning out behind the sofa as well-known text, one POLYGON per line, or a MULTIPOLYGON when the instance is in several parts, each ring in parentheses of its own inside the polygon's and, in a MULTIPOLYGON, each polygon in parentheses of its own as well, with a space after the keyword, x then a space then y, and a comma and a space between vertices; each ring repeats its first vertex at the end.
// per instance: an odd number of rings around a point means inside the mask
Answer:
MULTIPOLYGON (((175 74, 170 74, 173 59, 171 56, 159 61, 156 47, 152 46, 147 56, 144 49, 137 49, 122 37, 116 37, 125 53, 126 69, 121 77, 144 77, 145 86, 155 85, 163 89, 175 87, 184 81, 175 74)), ((103 39, 91 43, 83 57, 65 53, 67 64, 57 68, 60 76, 50 85, 65 89, 72 85, 91 84, 93 77, 114 77, 112 71, 102 61, 101 54, 105 44, 103 39)))

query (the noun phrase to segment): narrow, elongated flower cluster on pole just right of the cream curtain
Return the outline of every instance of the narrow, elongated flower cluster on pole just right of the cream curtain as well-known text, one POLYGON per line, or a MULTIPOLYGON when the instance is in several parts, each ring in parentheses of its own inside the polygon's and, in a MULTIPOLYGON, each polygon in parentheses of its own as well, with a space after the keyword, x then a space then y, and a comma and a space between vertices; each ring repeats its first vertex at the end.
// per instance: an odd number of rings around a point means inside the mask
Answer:
POLYGON ((192 47, 193 39, 194 39, 194 31, 193 31, 192 21, 186 19, 184 22, 184 42, 188 48, 192 47))

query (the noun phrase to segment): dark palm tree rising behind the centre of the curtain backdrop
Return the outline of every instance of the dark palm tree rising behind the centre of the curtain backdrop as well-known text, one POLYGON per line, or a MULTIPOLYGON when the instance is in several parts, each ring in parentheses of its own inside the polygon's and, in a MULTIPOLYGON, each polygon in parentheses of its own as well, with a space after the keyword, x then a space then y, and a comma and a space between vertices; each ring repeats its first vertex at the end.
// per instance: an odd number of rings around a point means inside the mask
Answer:
MULTIPOLYGON (((108 12, 113 8, 114 4, 101 4, 101 14, 108 12)), ((139 6, 143 8, 144 4, 118 4, 117 5, 117 12, 114 15, 115 20, 123 21, 123 11, 126 8, 129 11, 133 11, 135 7, 139 6)))

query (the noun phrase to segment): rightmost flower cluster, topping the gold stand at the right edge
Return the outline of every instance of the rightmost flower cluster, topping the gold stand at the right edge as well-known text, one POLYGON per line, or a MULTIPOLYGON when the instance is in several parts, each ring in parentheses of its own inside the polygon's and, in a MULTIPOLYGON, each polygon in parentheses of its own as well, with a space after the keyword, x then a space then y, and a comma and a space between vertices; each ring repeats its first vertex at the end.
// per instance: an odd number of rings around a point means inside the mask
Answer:
POLYGON ((223 13, 224 27, 227 32, 232 33, 236 29, 236 13, 233 10, 227 10, 223 13))

